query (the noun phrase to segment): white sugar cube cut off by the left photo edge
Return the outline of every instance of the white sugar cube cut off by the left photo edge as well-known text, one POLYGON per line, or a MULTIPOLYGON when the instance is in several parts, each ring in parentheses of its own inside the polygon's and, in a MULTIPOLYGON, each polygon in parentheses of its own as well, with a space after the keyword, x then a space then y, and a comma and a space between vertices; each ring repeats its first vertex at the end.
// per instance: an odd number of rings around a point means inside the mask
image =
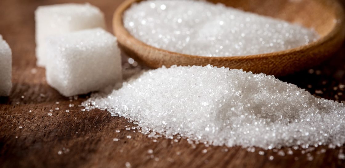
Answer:
POLYGON ((12 51, 0 35, 0 96, 9 96, 12 88, 12 51))

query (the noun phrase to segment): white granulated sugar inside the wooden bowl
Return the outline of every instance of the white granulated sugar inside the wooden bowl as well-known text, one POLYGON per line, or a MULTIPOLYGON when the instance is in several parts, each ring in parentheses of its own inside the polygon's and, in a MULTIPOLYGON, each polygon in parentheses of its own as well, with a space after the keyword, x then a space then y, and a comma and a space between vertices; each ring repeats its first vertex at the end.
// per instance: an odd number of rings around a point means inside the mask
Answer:
POLYGON ((141 1, 126 10, 124 25, 148 45, 200 56, 271 53, 319 38, 300 25, 192 0, 141 1))

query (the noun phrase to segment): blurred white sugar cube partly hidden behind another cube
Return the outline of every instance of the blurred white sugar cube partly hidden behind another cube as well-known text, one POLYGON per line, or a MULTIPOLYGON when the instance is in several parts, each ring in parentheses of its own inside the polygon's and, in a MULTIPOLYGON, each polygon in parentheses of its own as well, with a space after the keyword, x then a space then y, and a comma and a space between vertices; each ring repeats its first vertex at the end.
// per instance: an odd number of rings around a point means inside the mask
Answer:
POLYGON ((46 66, 45 38, 96 27, 105 28, 104 14, 88 3, 40 6, 35 11, 36 57, 38 66, 46 66))

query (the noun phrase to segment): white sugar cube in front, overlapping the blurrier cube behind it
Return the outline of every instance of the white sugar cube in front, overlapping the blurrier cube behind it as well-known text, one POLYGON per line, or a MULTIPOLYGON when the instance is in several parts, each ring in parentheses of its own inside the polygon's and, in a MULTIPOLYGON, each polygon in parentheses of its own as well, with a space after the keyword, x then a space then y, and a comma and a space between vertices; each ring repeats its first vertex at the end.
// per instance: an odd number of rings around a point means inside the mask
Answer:
POLYGON ((97 91, 122 80, 117 39, 101 28, 47 38, 47 82, 63 96, 97 91))

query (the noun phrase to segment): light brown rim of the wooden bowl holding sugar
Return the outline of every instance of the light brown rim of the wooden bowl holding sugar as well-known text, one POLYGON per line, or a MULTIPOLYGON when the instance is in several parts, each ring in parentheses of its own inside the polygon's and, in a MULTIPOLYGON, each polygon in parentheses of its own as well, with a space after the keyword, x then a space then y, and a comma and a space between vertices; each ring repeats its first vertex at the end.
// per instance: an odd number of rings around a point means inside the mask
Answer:
POLYGON ((262 58, 270 58, 273 56, 284 56, 289 53, 295 53, 295 52, 301 52, 301 51, 307 51, 309 49, 312 49, 314 47, 317 47, 321 44, 324 44, 328 41, 331 41, 334 36, 336 36, 339 32, 341 32, 343 29, 345 30, 345 12, 343 6, 340 4, 338 0, 332 0, 328 1, 328 3, 325 3, 325 5, 330 6, 333 8, 335 12, 335 20, 336 23, 333 26, 333 29, 326 34, 325 36, 319 38, 315 42, 309 43, 307 45, 302 45, 298 46, 295 48, 290 48, 287 50, 283 51, 278 51, 278 52, 272 52, 272 53, 264 53, 264 54, 255 54, 255 55, 236 55, 236 56, 199 56, 199 55, 189 55, 189 54, 183 54, 183 53, 178 53, 178 52, 172 52, 168 51, 166 49, 161 49, 157 48, 154 46, 151 46, 149 44, 146 44, 145 42, 142 42, 135 38, 132 34, 129 33, 129 31, 126 29, 126 27, 123 24, 123 14, 124 12, 131 7, 133 3, 140 2, 140 1, 145 1, 145 0, 125 0, 122 2, 119 7, 116 9, 113 15, 113 31, 114 34, 117 35, 118 32, 119 34, 126 33, 126 36, 129 36, 132 40, 132 42, 135 43, 135 45, 141 45, 142 47, 145 48, 152 48, 156 51, 169 54, 169 55, 174 55, 174 56, 181 56, 181 57, 186 57, 186 58, 198 58, 198 59, 212 59, 212 60, 239 60, 239 59, 262 59, 262 58))

